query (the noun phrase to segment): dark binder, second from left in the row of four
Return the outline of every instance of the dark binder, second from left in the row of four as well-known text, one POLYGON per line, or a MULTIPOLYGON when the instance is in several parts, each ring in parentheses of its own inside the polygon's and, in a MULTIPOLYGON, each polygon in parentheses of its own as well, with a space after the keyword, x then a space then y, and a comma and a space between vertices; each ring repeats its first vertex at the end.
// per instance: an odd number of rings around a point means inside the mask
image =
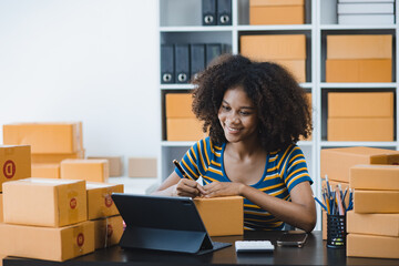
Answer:
POLYGON ((187 83, 190 76, 188 44, 175 44, 175 82, 187 83))

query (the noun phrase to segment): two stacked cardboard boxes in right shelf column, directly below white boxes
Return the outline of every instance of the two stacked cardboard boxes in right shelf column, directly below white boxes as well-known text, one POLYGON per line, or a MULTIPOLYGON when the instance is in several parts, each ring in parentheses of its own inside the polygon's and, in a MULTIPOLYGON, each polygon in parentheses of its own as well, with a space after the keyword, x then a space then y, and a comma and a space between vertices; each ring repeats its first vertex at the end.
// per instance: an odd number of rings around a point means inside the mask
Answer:
POLYGON ((326 82, 392 82, 392 35, 327 35, 326 82))

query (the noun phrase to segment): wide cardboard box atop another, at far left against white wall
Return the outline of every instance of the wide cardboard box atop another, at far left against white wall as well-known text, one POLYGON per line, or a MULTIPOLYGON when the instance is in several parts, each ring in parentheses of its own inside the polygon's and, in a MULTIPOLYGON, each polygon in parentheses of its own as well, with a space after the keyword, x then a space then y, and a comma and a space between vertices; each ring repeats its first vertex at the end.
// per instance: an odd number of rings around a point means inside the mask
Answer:
POLYGON ((60 178, 60 163, 83 158, 82 123, 17 123, 3 125, 6 145, 31 145, 32 176, 60 178))

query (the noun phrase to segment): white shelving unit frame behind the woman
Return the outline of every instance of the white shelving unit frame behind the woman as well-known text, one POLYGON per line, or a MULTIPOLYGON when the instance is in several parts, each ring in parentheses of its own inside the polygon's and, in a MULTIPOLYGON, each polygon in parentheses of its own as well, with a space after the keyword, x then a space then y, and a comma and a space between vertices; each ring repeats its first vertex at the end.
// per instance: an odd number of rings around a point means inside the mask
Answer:
MULTIPOLYGON (((298 143, 308 162, 309 173, 314 180, 315 195, 320 192, 320 150, 339 146, 374 146, 399 149, 397 132, 398 120, 398 41, 399 24, 380 25, 342 25, 337 24, 337 0, 305 0, 305 24, 289 25, 249 25, 249 0, 232 0, 232 25, 202 25, 201 2, 198 0, 160 0, 160 41, 178 42, 222 42, 231 45, 232 53, 239 53, 239 37, 243 34, 291 34, 306 35, 307 61, 306 82, 300 85, 311 92, 314 132, 310 141, 298 143), (329 83, 326 82, 326 35, 327 34, 392 34, 392 82, 388 83, 329 83), (390 91, 395 94, 395 141, 392 142, 328 142, 327 141, 327 92, 329 91, 390 91)), ((398 1, 396 1, 398 14, 398 1)), ((398 18, 398 17, 396 17, 398 18)), ((162 110, 163 94, 173 91, 190 91, 190 84, 160 84, 162 110)), ((164 120, 164 111, 161 114, 164 120)), ((161 133, 160 178, 164 180, 173 171, 172 160, 181 158, 194 142, 167 142, 164 139, 165 125, 161 133)), ((320 216, 320 215, 318 215, 320 216)), ((320 228, 318 217, 317 228, 320 228)))

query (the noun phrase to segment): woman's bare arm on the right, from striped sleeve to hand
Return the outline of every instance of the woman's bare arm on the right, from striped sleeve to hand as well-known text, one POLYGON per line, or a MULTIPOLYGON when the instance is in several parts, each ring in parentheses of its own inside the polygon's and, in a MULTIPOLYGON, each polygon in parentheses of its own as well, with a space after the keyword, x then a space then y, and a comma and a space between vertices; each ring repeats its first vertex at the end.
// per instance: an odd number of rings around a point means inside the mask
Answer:
POLYGON ((316 225, 316 205, 308 182, 297 184, 290 191, 291 202, 287 202, 248 185, 236 182, 213 182, 206 186, 205 197, 241 195, 266 209, 278 219, 295 227, 311 232, 316 225))

